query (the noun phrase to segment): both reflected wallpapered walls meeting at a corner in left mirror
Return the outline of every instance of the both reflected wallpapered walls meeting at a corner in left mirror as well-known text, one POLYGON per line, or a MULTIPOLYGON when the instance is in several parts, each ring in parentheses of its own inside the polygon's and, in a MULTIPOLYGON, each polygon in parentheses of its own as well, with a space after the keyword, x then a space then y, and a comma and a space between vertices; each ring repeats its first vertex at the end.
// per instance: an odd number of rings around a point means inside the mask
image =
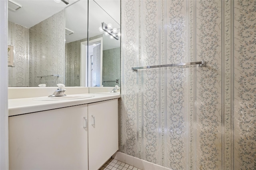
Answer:
POLYGON ((9 67, 9 87, 36 87, 41 83, 55 86, 63 82, 63 28, 63 10, 30 29, 8 22, 8 44, 15 47, 15 67, 9 67))

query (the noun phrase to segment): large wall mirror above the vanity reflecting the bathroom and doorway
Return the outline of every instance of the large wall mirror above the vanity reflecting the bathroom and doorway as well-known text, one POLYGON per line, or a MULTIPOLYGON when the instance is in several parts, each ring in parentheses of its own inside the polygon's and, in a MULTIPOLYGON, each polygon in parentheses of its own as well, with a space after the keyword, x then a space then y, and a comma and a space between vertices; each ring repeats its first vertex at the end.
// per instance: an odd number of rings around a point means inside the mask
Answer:
POLYGON ((8 10, 9 87, 120 85, 120 37, 99 30, 105 22, 120 32, 120 0, 66 1, 8 2, 21 6, 8 10))

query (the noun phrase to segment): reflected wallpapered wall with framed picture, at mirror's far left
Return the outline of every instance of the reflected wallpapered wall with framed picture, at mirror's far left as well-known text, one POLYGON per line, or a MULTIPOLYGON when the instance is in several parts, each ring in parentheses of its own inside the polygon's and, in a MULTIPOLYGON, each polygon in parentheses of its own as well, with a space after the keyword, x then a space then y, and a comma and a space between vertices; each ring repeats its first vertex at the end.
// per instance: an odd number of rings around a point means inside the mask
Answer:
POLYGON ((29 29, 8 22, 8 45, 14 46, 14 67, 8 67, 9 87, 27 87, 29 79, 29 29))

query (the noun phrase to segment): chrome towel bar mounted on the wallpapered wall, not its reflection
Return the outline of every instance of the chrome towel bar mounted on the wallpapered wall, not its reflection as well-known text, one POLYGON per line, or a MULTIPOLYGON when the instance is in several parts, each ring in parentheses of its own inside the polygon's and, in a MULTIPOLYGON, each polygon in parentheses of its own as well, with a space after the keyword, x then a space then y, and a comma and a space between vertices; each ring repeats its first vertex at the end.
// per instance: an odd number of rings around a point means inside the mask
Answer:
POLYGON ((197 65, 199 67, 205 67, 206 61, 196 61, 189 63, 178 63, 178 64, 165 64, 165 65, 152 65, 152 66, 144 66, 144 67, 132 67, 132 71, 137 71, 138 69, 151 69, 151 68, 160 68, 160 67, 174 67, 174 66, 183 66, 183 65, 197 65))

